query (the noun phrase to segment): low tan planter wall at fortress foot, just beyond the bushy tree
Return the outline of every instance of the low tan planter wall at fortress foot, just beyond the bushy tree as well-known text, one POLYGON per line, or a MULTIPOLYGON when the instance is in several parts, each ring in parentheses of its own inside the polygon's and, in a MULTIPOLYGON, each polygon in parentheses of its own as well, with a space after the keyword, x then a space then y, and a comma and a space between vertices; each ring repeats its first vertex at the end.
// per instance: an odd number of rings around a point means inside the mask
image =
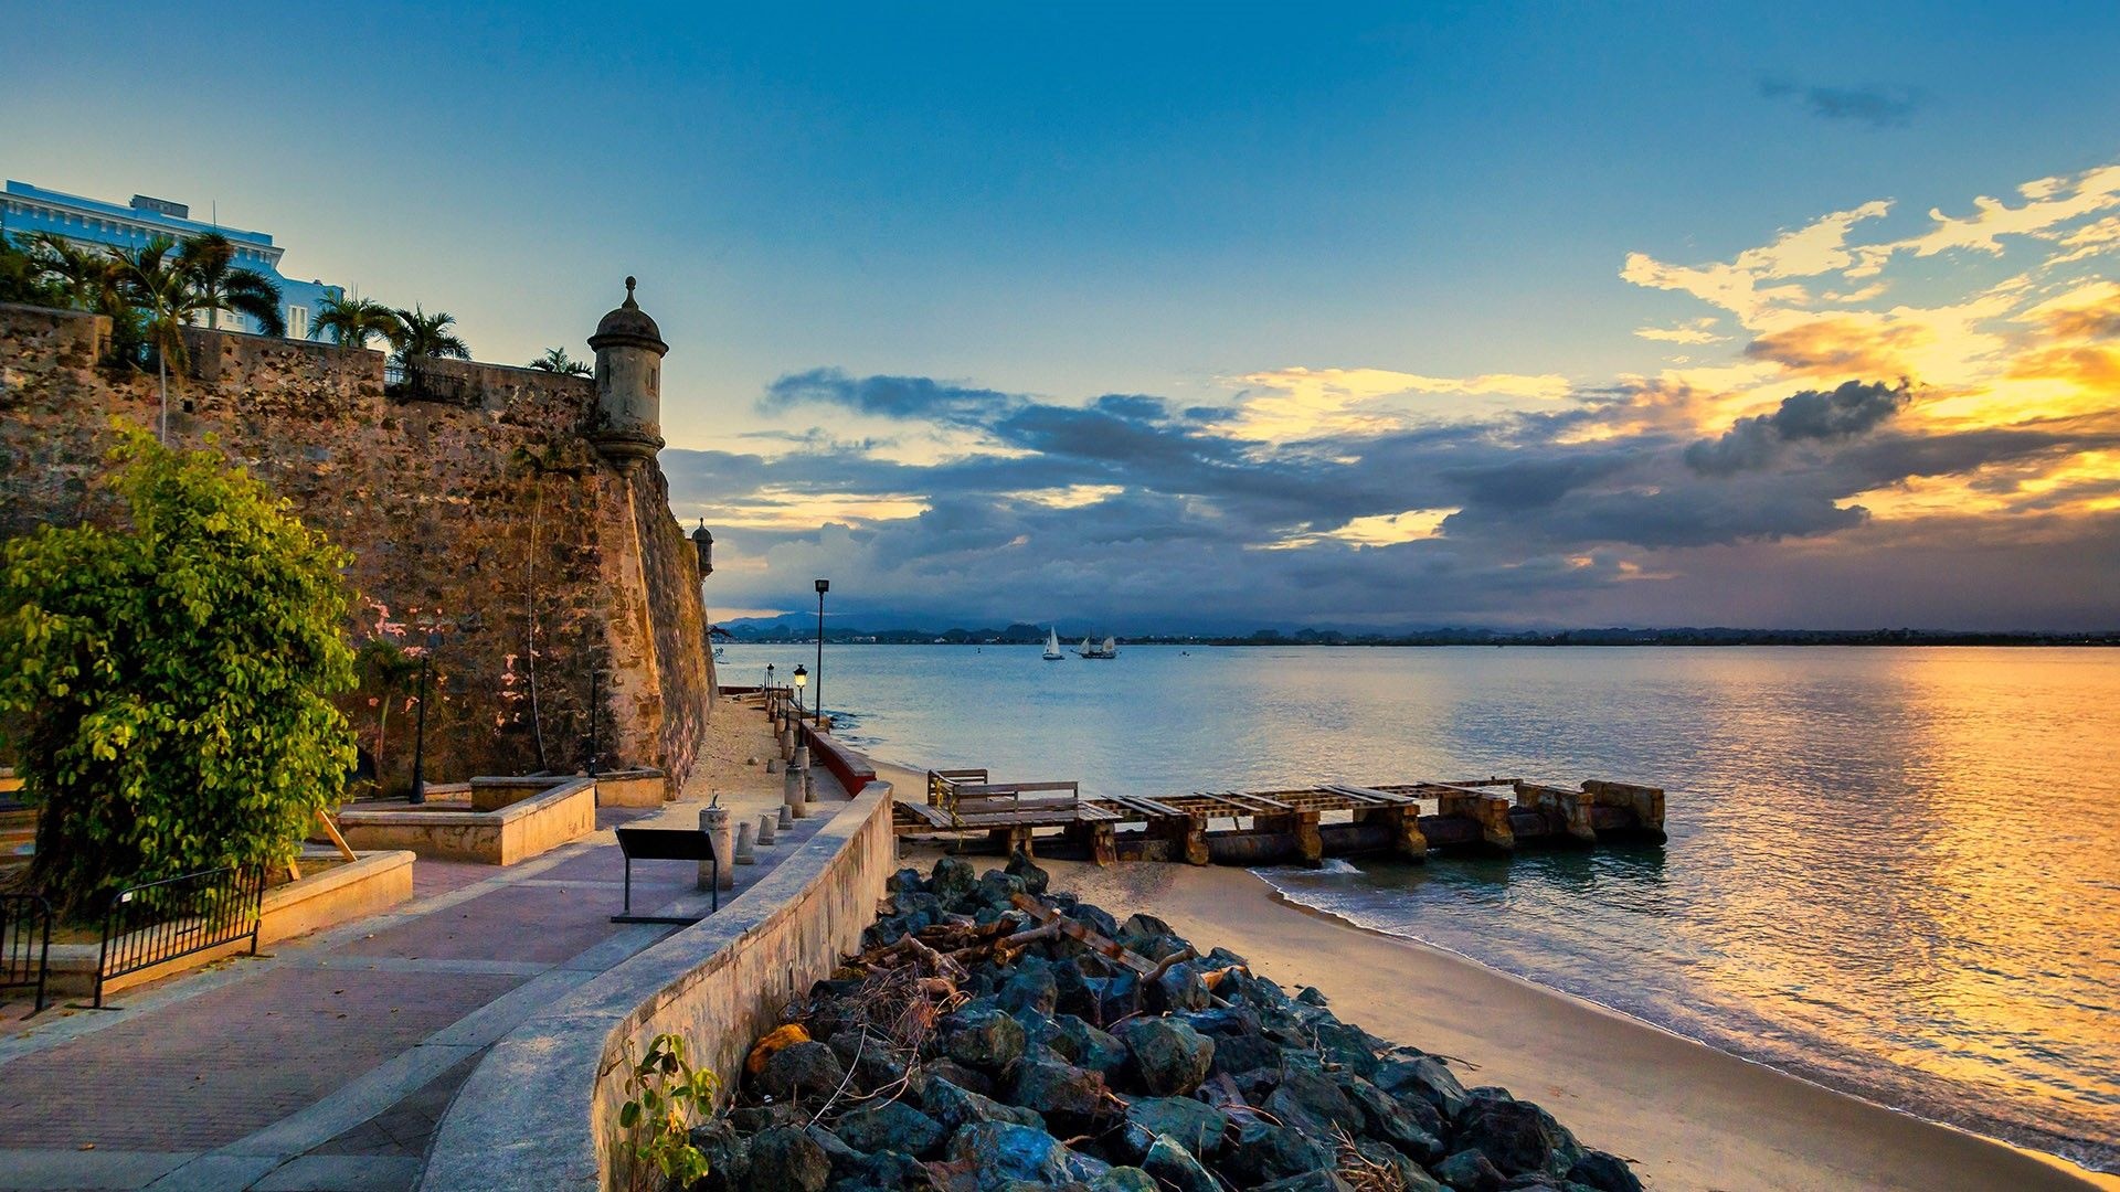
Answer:
MULTIPOLYGON (((473 802, 481 787, 473 783, 473 802)), ((488 797, 515 791, 485 787, 488 797)), ((500 810, 341 810, 339 831, 354 848, 409 848, 422 857, 513 865, 596 831, 596 778, 564 778, 500 810)))

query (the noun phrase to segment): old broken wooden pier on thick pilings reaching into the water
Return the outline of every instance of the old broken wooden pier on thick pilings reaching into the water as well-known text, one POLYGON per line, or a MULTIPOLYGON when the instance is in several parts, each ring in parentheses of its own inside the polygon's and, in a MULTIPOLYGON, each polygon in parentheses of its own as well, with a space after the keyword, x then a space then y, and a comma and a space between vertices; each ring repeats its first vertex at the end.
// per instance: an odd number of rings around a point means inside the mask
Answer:
POLYGON ((1191 865, 1317 863, 1325 857, 1662 842, 1664 791, 1522 778, 1321 785, 1291 791, 1094 795, 1075 783, 994 783, 986 770, 929 770, 926 802, 901 800, 899 836, 986 838, 994 851, 1191 865))

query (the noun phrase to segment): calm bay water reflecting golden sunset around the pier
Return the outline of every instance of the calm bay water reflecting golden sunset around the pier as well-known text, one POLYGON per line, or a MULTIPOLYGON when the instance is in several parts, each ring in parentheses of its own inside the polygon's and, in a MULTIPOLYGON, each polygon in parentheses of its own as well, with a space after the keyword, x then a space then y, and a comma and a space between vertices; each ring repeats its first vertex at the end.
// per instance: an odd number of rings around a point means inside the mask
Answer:
MULTIPOLYGON (((723 681, 801 649, 731 647, 723 681)), ((2120 651, 831 647, 912 766, 1168 793, 1626 778, 1660 851, 1272 870, 1728 1052, 2120 1169, 2120 651)))

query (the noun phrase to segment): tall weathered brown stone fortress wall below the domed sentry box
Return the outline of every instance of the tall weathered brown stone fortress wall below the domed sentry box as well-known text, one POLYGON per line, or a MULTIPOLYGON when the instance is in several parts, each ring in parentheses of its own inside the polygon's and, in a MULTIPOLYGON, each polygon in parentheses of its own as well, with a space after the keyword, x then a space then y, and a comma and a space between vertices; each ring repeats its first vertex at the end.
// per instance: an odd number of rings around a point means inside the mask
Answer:
MULTIPOLYGON (((100 369, 108 322, 0 305, 0 537, 110 515, 110 420, 155 426, 153 373, 100 369)), ((712 696, 697 558, 661 471, 581 428, 587 378, 432 361, 386 395, 382 352, 197 331, 170 378, 170 441, 212 441, 354 554, 358 641, 441 626, 430 781, 657 766, 683 783, 712 696), (532 662, 532 636, 536 653, 532 662), (594 677, 594 679, 591 679, 594 677), (543 738, 543 749, 541 740, 543 738), (543 759, 543 766, 541 766, 543 759)), ((409 694, 343 708, 386 787, 411 774, 409 694)))

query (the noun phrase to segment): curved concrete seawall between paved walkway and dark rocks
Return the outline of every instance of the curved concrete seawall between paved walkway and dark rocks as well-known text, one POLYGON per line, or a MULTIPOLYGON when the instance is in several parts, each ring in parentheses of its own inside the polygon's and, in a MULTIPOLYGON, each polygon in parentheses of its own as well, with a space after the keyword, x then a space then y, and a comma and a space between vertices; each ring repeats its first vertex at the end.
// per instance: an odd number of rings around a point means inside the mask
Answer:
POLYGON ((721 912, 494 1044, 435 1130, 422 1192, 615 1188, 628 1048, 676 1031, 734 1086, 780 1007, 861 946, 895 865, 890 785, 869 783, 721 912))

